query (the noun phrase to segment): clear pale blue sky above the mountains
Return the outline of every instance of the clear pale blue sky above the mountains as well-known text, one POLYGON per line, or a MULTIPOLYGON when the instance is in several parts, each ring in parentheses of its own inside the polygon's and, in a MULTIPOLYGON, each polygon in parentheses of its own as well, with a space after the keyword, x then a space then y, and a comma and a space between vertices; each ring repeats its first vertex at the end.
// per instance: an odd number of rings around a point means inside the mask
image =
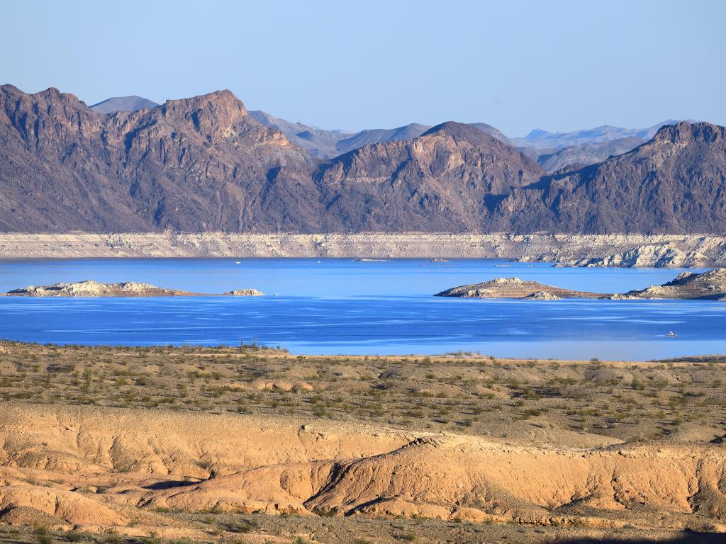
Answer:
POLYGON ((726 1, 4 1, 0 80, 323 128, 726 124, 726 1))

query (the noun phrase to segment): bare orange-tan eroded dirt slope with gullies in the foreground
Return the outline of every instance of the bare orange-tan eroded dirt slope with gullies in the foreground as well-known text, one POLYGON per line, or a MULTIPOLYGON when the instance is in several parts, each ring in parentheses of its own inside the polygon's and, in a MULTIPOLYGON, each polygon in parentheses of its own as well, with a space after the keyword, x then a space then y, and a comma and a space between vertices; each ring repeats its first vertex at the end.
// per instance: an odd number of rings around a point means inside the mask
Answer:
POLYGON ((29 508, 58 524, 125 527, 124 509, 134 506, 726 531, 722 445, 581 449, 284 417, 13 403, 0 414, 0 445, 6 522, 29 508))

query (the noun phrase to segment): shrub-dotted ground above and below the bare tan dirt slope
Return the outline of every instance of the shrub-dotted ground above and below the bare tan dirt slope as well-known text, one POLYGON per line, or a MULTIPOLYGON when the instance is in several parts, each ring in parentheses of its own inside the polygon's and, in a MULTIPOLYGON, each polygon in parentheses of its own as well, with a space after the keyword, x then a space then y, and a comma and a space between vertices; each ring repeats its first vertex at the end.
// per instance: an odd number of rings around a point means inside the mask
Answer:
MULTIPOLYGON (((253 346, 60 347, 0 342, 0 368, 4 403, 294 416, 303 421, 358 421, 501 440, 531 440, 532 433, 538 433, 543 440, 566 437, 573 444, 680 440, 684 433, 688 440, 718 442, 720 437, 713 433, 722 429, 726 407, 723 358, 618 363, 507 360, 474 353, 319 357, 253 346), (557 434, 563 432, 569 434, 557 434)), ((190 464, 194 472, 184 474, 195 477, 179 476, 184 485, 225 470, 218 457, 205 450, 197 451, 190 464)), ((137 470, 133 463, 114 467, 116 474, 137 470)), ((75 491, 105 493, 101 487, 75 491)), ((500 527, 491 519, 475 524, 458 517, 449 522, 420 517, 364 522, 327 508, 318 508, 317 515, 309 517, 294 511, 282 511, 280 516, 228 513, 217 506, 193 514, 154 505, 146 511, 174 523, 192 524, 204 538, 91 535, 80 529, 56 532, 36 527, 32 532, 23 529, 24 536, 19 540, 14 535, 12 540, 241 544, 248 533, 260 533, 295 543, 392 544, 450 540, 456 531, 462 542, 473 543, 481 541, 478 532, 486 524, 490 532, 512 531, 507 534, 515 540, 510 541, 523 540, 516 530, 526 531, 527 542, 539 542, 531 540, 539 534, 532 528, 500 527), (370 527, 375 532, 369 532, 370 527)), ((575 525, 568 522, 568 530, 575 525)), ((0 542, 10 534, 0 525, 0 542)))

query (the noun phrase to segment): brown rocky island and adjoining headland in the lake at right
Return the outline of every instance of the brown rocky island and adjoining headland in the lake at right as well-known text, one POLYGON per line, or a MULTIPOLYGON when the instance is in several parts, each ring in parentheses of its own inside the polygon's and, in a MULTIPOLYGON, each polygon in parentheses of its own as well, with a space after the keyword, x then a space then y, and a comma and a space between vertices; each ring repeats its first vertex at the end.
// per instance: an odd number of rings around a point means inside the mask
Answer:
POLYGON ((601 300, 680 299, 726 300, 726 268, 703 273, 683 272, 672 281, 627 293, 605 294, 574 291, 537 281, 519 278, 495 278, 480 284, 460 285, 434 295, 435 297, 505 298, 521 300, 560 300, 591 298, 601 300))

